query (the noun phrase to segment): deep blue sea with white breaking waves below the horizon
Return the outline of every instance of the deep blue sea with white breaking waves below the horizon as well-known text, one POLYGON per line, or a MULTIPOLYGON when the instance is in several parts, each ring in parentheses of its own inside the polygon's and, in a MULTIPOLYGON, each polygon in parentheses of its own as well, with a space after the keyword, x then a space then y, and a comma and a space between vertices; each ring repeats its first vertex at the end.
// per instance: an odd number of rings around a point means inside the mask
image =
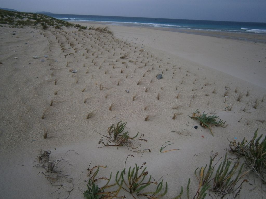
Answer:
POLYGON ((113 25, 129 24, 134 26, 161 27, 174 29, 194 29, 206 31, 247 32, 266 34, 266 23, 237 22, 237 21, 207 21, 187 19, 163 19, 143 17, 121 17, 121 16, 97 16, 97 15, 69 15, 69 14, 47 14, 57 19, 66 21, 98 21, 109 22, 113 25))

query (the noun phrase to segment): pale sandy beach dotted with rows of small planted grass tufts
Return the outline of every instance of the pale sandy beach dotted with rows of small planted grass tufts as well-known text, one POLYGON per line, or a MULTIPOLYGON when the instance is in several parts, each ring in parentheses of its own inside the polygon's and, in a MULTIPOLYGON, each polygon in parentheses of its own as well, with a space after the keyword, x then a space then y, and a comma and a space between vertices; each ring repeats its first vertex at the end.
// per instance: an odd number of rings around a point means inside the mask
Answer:
MULTIPOLYGON (((84 198, 90 163, 107 165, 99 176, 112 172, 113 180, 129 154, 134 157, 128 157, 127 169, 146 162, 154 181, 168 182, 164 198, 176 197, 181 186, 186 198, 189 178, 193 197, 194 171, 210 155, 218 153, 217 162, 228 140, 250 140, 257 128, 266 135, 265 43, 109 28, 113 36, 73 27, 0 27, 0 198, 84 198), (225 128, 213 126, 212 136, 189 118, 196 110, 217 114, 225 128), (137 140, 138 151, 99 143, 100 134, 121 120, 130 136, 139 132, 147 139, 137 140), (167 141, 173 144, 164 150, 170 151, 160 153, 167 141), (40 149, 64 160, 59 177, 46 176, 35 159, 40 149)), ((246 178, 236 198, 265 198, 265 185, 251 172, 246 178)))

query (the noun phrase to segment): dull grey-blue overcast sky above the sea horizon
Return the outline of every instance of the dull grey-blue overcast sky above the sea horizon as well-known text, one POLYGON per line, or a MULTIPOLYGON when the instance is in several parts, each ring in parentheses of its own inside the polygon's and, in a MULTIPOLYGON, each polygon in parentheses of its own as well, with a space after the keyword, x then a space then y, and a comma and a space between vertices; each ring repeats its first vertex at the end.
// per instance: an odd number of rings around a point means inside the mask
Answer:
POLYGON ((266 23, 265 0, 1 0, 22 12, 266 23))

